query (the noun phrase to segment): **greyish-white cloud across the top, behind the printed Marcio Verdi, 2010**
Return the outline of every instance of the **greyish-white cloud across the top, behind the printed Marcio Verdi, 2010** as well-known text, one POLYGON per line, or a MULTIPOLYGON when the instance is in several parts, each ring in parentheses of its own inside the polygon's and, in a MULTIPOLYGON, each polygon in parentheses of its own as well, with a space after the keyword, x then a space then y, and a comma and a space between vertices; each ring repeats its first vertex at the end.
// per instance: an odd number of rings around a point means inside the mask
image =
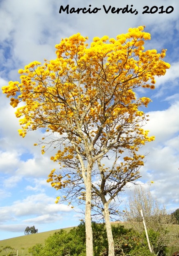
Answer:
MULTIPOLYGON (((22 68, 33 60, 43 61, 44 58, 55 58, 55 44, 60 42, 61 37, 67 37, 76 32, 81 32, 85 36, 89 36, 90 40, 94 36, 110 35, 115 37, 120 33, 125 33, 129 27, 138 25, 151 25, 154 32, 166 34, 172 31, 171 23, 178 19, 177 12, 171 14, 142 14, 143 7, 148 5, 147 1, 127 2, 129 7, 133 5, 133 9, 138 10, 138 15, 134 14, 106 14, 103 11, 103 5, 114 6, 119 8, 126 7, 126 3, 114 0, 90 2, 92 7, 101 7, 101 11, 97 14, 59 14, 60 5, 66 3, 57 3, 49 0, 33 0, 24 2, 18 0, 3 1, 1 4, 0 24, 2 26, 1 40, 6 40, 7 46, 11 48, 11 58, 6 58, 3 65, 10 69, 9 75, 18 78, 16 69, 22 68), (11 6, 11 8, 9 8, 11 6), (27 12, 28 10, 28 12, 27 12), (75 23, 74 23, 75 20, 75 23), (125 20, 125 22, 124 22, 125 20), (122 25, 121 25, 122 24, 122 25), (13 48, 12 48, 13 46, 13 48)), ((150 7, 156 5, 154 0, 150 1, 150 7)), ((158 0, 157 6, 163 5, 162 0, 158 0)), ((174 6, 174 10, 178 8, 179 3, 170 1, 170 5, 174 6)), ((89 3, 84 1, 69 1, 70 7, 89 7, 89 3)), ((165 7, 168 5, 166 4, 165 7)), ((147 31, 147 29, 146 29, 147 31)), ((166 37, 164 37, 166 38, 166 37)), ((163 39, 164 39, 163 38, 163 39)), ((159 42, 158 42, 159 44, 159 42)))

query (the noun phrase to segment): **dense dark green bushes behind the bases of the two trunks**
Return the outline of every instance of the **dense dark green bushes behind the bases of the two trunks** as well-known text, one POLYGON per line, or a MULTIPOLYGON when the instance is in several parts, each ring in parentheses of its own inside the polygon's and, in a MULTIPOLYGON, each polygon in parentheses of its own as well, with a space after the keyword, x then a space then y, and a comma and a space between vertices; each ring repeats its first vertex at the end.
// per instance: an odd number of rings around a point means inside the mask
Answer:
MULTIPOLYGON (((93 248, 94 256, 108 256, 108 240, 105 224, 92 223, 93 228, 93 248)), ((133 228, 124 228, 112 226, 112 234, 115 242, 115 256, 151 256, 145 233, 142 235, 133 228)), ((157 248, 158 233, 149 231, 151 246, 157 248)), ((36 244, 29 248, 31 256, 86 256, 85 247, 85 223, 81 222, 76 228, 71 229, 69 233, 61 230, 55 232, 46 239, 45 245, 36 244)), ((152 254, 155 256, 156 254, 152 254)), ((166 256, 165 246, 158 250, 158 256, 166 256)))

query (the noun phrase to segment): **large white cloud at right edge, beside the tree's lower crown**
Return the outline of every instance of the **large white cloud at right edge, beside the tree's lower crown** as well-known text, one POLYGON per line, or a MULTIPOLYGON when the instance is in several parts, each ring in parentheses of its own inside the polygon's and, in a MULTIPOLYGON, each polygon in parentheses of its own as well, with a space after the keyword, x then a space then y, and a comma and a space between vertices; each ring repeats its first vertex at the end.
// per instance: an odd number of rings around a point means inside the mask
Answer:
POLYGON ((179 102, 168 109, 149 113, 149 122, 145 129, 156 136, 156 140, 147 143, 142 152, 149 152, 145 166, 141 168, 142 180, 154 181, 151 189, 160 203, 173 209, 178 205, 179 177, 179 102))

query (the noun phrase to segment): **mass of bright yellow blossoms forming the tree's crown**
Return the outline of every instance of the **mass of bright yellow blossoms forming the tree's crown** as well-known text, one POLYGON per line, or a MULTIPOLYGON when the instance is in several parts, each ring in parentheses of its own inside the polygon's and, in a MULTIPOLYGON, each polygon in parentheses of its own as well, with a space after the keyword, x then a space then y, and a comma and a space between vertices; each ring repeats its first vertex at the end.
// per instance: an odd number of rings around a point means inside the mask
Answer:
MULTIPOLYGON (((73 142, 71 146, 63 145, 63 151, 58 150, 51 160, 65 166, 67 161, 78 159, 77 152, 85 159, 84 141, 94 143, 95 151, 96 145, 105 141, 108 141, 106 145, 112 144, 115 138, 116 143, 124 145, 119 153, 125 149, 132 152, 120 167, 127 173, 131 161, 136 166, 143 165, 143 156, 135 152, 147 141, 154 140, 154 136, 149 137, 148 131, 141 128, 147 116, 140 109, 147 107, 151 100, 138 99, 135 90, 155 88, 155 76, 165 75, 170 68, 163 61, 166 50, 145 51, 144 43, 150 34, 144 32, 143 26, 130 28, 116 39, 106 35, 94 37, 90 46, 87 39, 80 33, 62 39, 55 45, 55 60, 45 60, 43 65, 38 61, 26 65, 18 71, 20 82, 9 81, 2 92, 10 97, 14 108, 22 102, 16 110, 20 136, 43 128, 59 136, 63 134, 73 142)), ((41 153, 45 153, 44 146, 41 153)), ((130 175, 135 177, 137 173, 130 175)), ((71 177, 63 180, 53 170, 47 181, 60 189, 71 182, 71 177)))

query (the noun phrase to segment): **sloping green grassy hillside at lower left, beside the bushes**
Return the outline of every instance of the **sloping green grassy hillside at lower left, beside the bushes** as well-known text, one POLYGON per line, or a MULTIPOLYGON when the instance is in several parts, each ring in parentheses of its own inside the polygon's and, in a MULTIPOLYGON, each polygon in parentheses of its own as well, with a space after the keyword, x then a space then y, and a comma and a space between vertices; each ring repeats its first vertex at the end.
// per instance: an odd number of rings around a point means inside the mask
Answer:
MULTIPOLYGON (((66 231, 69 231, 71 228, 63 228, 66 231)), ((52 230, 52 231, 46 231, 46 232, 42 232, 42 233, 36 233, 36 234, 32 234, 32 235, 23 235, 23 236, 19 236, 16 238, 9 238, 9 239, 5 239, 5 240, 0 240, 0 248, 1 246, 11 246, 13 248, 16 249, 16 251, 18 250, 18 256, 25 256, 25 255, 29 255, 28 253, 28 248, 32 247, 33 245, 39 243, 39 244, 44 244, 45 240, 52 235, 53 233, 60 231, 60 229, 56 229, 56 230, 52 230), (25 250, 23 251, 22 254, 22 250, 21 248, 25 248, 25 250)), ((5 255, 5 251, 0 252, 0 256, 5 255)))

